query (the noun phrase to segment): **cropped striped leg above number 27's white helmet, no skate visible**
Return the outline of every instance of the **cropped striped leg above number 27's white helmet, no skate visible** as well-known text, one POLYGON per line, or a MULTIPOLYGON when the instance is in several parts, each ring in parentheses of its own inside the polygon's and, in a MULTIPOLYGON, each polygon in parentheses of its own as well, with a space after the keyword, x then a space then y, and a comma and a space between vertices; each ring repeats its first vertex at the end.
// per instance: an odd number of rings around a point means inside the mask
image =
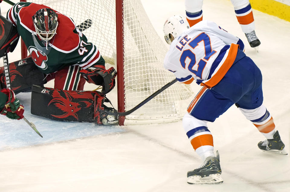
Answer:
POLYGON ((203 0, 185 0, 186 19, 190 27, 202 21, 202 4, 203 0))

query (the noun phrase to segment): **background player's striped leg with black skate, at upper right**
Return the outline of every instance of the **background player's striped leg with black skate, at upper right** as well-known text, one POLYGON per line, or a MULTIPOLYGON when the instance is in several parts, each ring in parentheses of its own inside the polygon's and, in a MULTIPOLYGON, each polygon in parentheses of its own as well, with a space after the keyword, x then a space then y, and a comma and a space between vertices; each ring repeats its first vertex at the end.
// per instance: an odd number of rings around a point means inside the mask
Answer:
POLYGON ((245 33, 250 46, 257 47, 261 44, 255 33, 255 22, 251 4, 249 0, 231 0, 234 5, 238 22, 245 33))

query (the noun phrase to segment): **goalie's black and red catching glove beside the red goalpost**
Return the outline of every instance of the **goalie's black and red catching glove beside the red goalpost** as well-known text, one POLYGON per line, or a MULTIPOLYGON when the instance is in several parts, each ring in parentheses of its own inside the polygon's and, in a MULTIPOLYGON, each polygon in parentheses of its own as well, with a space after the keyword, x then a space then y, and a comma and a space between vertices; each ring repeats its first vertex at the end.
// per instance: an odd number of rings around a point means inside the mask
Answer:
POLYGON ((102 69, 104 66, 91 66, 87 69, 80 70, 80 74, 89 83, 102 86, 102 94, 107 94, 115 87, 115 77, 117 75, 114 67, 102 69))

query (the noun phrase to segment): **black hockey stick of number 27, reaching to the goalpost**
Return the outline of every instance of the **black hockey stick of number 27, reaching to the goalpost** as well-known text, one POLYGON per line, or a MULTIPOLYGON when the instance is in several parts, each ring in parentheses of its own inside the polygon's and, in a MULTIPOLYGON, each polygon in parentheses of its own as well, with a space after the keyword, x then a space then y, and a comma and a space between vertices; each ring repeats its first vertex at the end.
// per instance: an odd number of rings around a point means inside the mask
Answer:
POLYGON ((142 101, 137 106, 133 107, 132 109, 130 109, 128 111, 125 111, 125 112, 110 112, 110 111, 107 111, 107 110, 103 110, 103 111, 100 111, 101 117, 102 117, 102 115, 114 115, 114 116, 117 116, 117 117, 129 115, 129 114, 133 113, 135 110, 139 109, 144 104, 146 104, 148 101, 150 101, 151 99, 153 99, 156 95, 158 95, 159 93, 161 93, 162 91, 164 91, 165 89, 167 89, 168 87, 170 87, 171 85, 173 85, 175 82, 177 82, 177 79, 176 78, 173 79, 171 82, 167 83, 166 85, 164 85, 163 87, 161 87, 160 89, 158 89, 152 95, 150 95, 149 97, 147 97, 144 101, 142 101))

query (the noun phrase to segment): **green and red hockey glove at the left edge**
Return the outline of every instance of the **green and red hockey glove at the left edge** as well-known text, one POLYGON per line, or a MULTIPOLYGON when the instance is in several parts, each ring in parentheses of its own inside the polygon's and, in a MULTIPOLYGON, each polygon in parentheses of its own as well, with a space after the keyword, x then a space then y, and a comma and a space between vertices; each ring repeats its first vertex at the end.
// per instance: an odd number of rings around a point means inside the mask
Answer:
POLYGON ((22 119, 24 117, 24 107, 20 104, 18 98, 15 97, 14 92, 10 89, 2 89, 1 92, 8 96, 8 101, 0 113, 10 119, 22 119))

